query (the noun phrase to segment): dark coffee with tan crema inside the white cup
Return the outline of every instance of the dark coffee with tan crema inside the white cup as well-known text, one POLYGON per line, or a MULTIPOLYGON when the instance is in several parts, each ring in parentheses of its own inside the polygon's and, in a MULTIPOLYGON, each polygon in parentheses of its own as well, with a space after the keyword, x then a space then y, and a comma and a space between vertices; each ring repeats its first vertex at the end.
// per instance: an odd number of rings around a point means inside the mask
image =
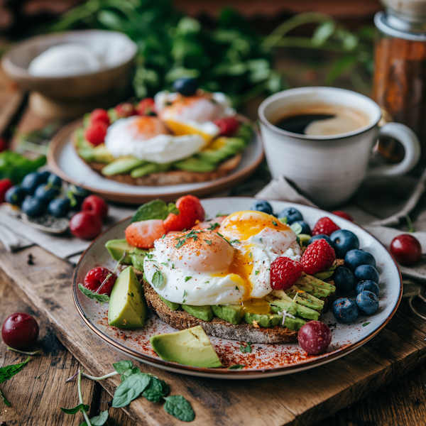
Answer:
POLYGON ((293 108, 275 121, 280 129, 307 136, 349 133, 367 124, 368 117, 361 111, 328 104, 293 108))

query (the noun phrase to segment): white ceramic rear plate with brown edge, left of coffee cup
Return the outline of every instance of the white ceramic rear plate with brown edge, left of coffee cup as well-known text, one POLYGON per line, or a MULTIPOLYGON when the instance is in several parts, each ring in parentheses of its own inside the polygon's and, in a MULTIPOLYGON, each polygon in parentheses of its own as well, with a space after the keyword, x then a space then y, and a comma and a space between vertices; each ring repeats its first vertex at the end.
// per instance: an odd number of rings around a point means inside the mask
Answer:
MULTIPOLYGON (((244 119, 244 118, 242 118, 244 119)), ((106 200, 129 204, 142 204, 154 198, 174 201, 185 194, 208 195, 229 189, 248 178, 263 159, 263 147, 259 133, 253 132, 249 146, 244 150, 241 162, 229 175, 208 182, 185 185, 138 186, 103 178, 94 172, 77 155, 72 145, 72 134, 82 124, 81 120, 65 126, 53 138, 49 146, 48 163, 53 172, 67 182, 74 183, 104 197, 106 200)))

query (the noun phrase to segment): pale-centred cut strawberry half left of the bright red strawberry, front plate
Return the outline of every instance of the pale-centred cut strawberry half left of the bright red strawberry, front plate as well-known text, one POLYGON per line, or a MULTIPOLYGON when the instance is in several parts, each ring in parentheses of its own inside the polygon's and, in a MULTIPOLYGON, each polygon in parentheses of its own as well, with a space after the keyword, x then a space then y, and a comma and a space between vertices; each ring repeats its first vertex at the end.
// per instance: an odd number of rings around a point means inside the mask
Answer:
POLYGON ((161 219, 142 220, 127 226, 126 241, 139 249, 152 249, 154 241, 166 234, 164 222, 161 219))

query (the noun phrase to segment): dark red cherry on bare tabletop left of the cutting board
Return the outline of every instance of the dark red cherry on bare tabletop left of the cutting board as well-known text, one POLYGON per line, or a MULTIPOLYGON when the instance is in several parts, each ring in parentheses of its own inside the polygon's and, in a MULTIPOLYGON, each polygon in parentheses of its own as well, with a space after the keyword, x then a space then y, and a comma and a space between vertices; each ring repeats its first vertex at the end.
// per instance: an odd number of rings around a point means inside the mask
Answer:
POLYGON ((34 317, 18 312, 6 318, 1 327, 3 342, 13 349, 31 346, 38 337, 38 324, 34 317))

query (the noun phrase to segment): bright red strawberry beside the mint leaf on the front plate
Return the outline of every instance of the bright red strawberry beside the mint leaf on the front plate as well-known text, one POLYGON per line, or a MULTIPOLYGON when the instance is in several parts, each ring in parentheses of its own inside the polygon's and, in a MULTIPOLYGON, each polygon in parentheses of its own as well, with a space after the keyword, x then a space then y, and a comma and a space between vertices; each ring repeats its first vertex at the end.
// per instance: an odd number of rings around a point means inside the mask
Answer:
POLYGON ((204 221, 204 209, 197 197, 185 195, 176 202, 179 214, 170 213, 164 221, 167 231, 191 229, 195 222, 204 221))

